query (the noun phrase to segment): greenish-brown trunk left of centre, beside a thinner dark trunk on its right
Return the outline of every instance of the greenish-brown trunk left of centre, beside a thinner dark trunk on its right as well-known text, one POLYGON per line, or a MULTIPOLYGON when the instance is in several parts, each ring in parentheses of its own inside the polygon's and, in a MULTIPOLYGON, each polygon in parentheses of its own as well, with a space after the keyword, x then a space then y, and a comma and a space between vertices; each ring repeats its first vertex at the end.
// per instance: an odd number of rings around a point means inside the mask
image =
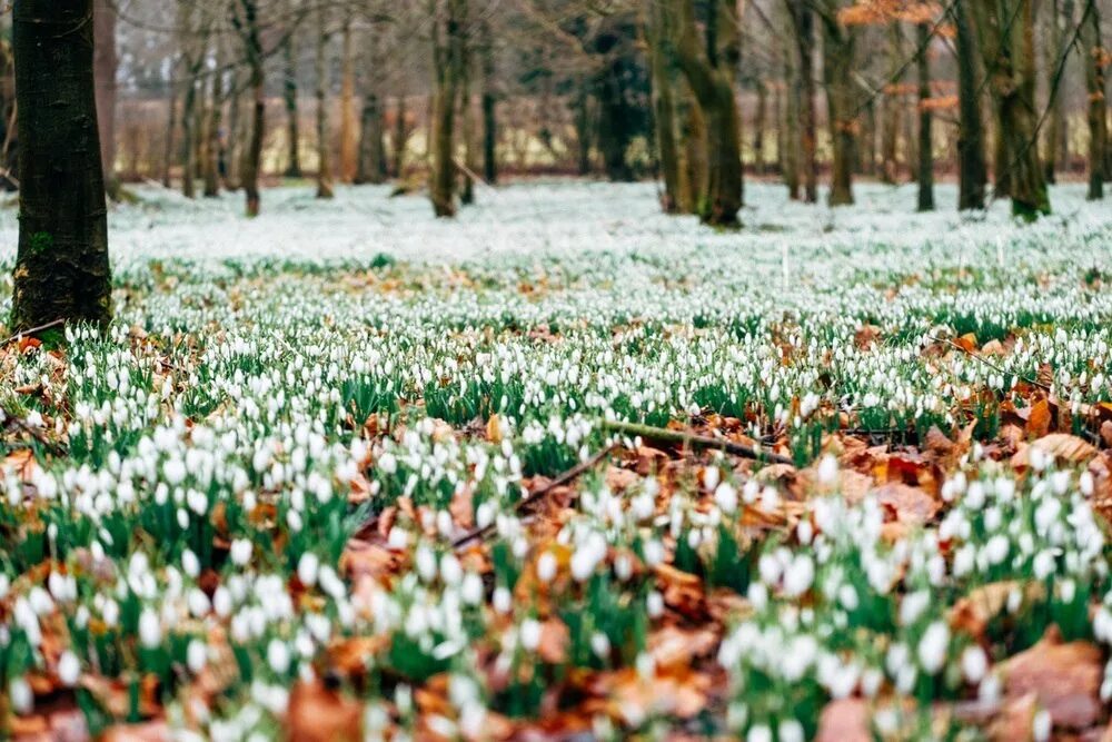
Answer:
POLYGON ((466 0, 441 0, 434 22, 436 72, 429 197, 437 217, 456 216, 455 130, 464 52, 466 0), (443 27, 443 28, 441 28, 443 27))

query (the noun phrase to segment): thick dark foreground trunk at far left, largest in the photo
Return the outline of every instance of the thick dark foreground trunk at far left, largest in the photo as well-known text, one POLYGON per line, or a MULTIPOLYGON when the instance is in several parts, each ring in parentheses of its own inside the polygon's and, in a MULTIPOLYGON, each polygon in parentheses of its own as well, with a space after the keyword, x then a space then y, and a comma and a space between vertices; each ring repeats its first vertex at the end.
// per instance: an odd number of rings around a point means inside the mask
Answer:
POLYGON ((92 0, 17 0, 19 249, 11 329, 111 317, 92 0))

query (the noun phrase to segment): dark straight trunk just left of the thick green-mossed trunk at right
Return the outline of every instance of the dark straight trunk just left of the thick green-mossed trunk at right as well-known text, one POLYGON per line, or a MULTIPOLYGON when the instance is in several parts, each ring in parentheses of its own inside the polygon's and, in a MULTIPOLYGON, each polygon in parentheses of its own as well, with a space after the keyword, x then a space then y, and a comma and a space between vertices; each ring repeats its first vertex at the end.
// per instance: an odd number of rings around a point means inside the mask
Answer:
POLYGON ((957 46, 957 208, 983 209, 987 167, 984 161, 984 123, 981 120, 976 49, 970 28, 971 0, 956 0, 953 9, 957 46))

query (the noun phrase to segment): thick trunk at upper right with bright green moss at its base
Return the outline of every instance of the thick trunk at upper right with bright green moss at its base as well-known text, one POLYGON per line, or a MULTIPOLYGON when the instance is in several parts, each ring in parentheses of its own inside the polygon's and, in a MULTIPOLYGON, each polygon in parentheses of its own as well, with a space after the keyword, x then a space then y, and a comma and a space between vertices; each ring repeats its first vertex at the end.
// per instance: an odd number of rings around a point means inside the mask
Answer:
POLYGON ((1012 214, 1032 220, 1050 214, 1036 141, 1032 0, 974 0, 973 12, 1000 122, 997 180, 1011 187, 1012 214))

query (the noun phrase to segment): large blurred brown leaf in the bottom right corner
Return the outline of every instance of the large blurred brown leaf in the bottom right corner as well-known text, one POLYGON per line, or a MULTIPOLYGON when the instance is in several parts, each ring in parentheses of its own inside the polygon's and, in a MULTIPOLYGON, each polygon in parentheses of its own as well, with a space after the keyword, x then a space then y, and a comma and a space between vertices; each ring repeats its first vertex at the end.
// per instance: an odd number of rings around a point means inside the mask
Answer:
POLYGON ((1054 726, 1089 729, 1101 718, 1099 692, 1103 677, 1101 650, 1089 642, 1062 643, 1056 627, 1030 650, 1000 665, 1009 700, 1034 693, 1054 726))

